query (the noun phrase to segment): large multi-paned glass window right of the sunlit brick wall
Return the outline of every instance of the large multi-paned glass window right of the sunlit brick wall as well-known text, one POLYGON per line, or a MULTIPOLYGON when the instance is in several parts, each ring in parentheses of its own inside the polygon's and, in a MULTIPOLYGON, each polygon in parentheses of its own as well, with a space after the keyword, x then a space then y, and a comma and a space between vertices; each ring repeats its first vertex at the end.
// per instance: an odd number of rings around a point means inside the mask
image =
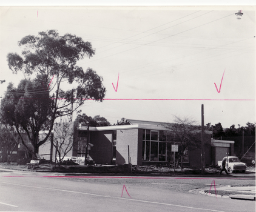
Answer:
POLYGON ((166 131, 143 130, 143 161, 166 162, 166 131))

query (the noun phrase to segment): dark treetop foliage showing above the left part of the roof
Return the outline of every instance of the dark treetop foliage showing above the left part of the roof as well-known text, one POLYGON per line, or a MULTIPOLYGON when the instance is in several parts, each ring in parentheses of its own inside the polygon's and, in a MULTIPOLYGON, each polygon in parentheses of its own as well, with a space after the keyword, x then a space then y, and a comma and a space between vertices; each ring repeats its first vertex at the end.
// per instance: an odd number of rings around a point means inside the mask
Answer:
POLYGON ((107 121, 107 119, 99 115, 92 118, 91 116, 87 116, 85 113, 78 114, 75 121, 82 125, 89 125, 90 127, 110 126, 110 123, 107 121))

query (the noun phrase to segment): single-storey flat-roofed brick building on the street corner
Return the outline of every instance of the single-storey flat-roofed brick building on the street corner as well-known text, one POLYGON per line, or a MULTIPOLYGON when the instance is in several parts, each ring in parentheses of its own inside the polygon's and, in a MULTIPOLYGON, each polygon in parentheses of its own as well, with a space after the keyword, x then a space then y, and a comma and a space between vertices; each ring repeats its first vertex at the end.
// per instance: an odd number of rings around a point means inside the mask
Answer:
MULTIPOLYGON (((160 165, 174 161, 170 132, 160 122, 129 120, 130 125, 114 125, 107 127, 80 126, 80 139, 67 156, 85 156, 85 143, 89 139, 89 156, 95 164, 128 164, 128 154, 133 165, 160 165), (87 134, 89 133, 89 135, 87 134), (128 153, 129 146, 129 153, 128 153)), ((201 132, 198 132, 201 134, 201 132)), ((211 139, 212 132, 205 132, 205 164, 217 165, 226 153, 234 153, 234 142, 211 139), (222 146, 221 146, 222 145, 222 146)), ((47 144, 45 144, 47 145, 47 144)), ((45 150, 46 147, 44 147, 45 150)), ((54 147, 51 148, 53 161, 54 147)), ((40 148, 39 148, 40 153, 40 148)), ((175 161, 177 161, 177 153, 175 161)), ((201 148, 187 148, 184 151, 183 165, 201 166, 201 148)))

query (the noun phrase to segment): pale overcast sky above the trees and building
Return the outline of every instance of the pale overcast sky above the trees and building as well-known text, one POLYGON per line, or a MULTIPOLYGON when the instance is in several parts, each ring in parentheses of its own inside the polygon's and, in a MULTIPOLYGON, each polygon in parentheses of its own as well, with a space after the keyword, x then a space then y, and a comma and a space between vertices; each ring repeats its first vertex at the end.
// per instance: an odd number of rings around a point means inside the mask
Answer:
POLYGON ((24 78, 7 54, 21 55, 24 36, 54 29, 95 48, 78 65, 102 76, 107 92, 80 108, 88 116, 201 124, 203 104, 205 124, 255 122, 255 7, 1 7, 0 15, 0 96, 24 78))

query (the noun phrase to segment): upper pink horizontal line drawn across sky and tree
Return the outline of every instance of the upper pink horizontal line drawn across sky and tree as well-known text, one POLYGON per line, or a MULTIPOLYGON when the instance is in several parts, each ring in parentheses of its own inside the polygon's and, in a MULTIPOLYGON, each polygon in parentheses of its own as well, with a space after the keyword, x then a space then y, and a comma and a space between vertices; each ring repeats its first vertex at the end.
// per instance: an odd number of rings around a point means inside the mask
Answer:
MULTIPOLYGON (((9 98, 15 99, 15 98, 9 98)), ((19 98, 19 99, 41 99, 41 98, 19 98)), ((56 98, 51 98, 56 99, 56 98)), ((58 98, 58 100, 69 100, 64 98, 58 98)), ((74 98, 74 100, 76 100, 74 98)), ((96 99, 82 99, 82 100, 96 100, 96 99)), ((99 99, 100 100, 100 99, 99 99)), ((255 99, 102 99, 102 100, 135 100, 135 101, 255 101, 255 99)))

